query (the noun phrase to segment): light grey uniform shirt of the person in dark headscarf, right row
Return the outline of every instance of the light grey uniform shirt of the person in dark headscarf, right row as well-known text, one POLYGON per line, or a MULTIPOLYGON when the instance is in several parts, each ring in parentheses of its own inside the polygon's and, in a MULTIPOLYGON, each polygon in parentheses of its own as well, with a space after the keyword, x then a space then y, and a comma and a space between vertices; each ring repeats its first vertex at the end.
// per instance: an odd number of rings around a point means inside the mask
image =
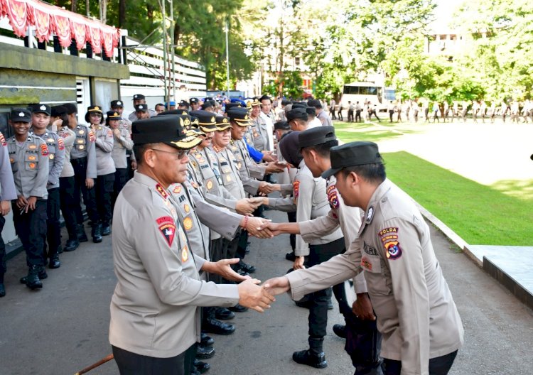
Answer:
MULTIPOLYGON (((307 168, 303 160, 298 165, 298 173, 294 178, 293 187, 293 197, 269 198, 269 206, 286 212, 296 211, 296 222, 304 222, 328 214, 330 207, 328 197, 325 194, 325 180, 313 178, 313 173, 307 168)), ((343 233, 338 228, 329 234, 311 239, 309 243, 297 234, 294 254, 296 256, 309 255, 309 244, 329 244, 341 237, 343 237, 343 233)))

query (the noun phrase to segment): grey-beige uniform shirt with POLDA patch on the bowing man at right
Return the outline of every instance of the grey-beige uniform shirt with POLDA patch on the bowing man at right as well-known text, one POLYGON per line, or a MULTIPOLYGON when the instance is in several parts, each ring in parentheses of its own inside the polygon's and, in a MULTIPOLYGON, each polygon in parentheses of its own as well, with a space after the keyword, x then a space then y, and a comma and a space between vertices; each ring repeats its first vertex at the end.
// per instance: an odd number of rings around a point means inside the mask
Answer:
POLYGON ((359 238, 345 254, 286 277, 299 300, 362 270, 383 335, 381 356, 402 361, 402 374, 429 374, 429 359, 461 347, 461 317, 429 227, 411 198, 389 180, 372 195, 359 238))

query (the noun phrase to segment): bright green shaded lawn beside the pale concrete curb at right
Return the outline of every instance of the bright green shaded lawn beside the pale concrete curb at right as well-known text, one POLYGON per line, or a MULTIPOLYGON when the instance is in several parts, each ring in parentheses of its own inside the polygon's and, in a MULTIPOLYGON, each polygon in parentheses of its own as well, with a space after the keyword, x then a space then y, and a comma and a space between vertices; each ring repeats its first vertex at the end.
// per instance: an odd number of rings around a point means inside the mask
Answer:
POLYGON ((490 188, 403 151, 383 158, 387 176, 468 244, 532 246, 533 195, 513 196, 512 184, 490 188))

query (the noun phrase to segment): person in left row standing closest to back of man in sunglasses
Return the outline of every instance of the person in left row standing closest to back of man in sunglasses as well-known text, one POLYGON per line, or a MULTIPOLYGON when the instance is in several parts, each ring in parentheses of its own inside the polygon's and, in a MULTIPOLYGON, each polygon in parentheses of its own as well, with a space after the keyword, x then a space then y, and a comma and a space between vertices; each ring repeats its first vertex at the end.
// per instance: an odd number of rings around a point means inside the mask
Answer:
POLYGON ((115 166, 114 188, 112 202, 114 206, 117 195, 128 181, 128 158, 126 153, 133 148, 129 129, 120 125, 122 117, 118 112, 109 111, 105 118, 105 124, 113 132, 113 151, 111 157, 115 166))

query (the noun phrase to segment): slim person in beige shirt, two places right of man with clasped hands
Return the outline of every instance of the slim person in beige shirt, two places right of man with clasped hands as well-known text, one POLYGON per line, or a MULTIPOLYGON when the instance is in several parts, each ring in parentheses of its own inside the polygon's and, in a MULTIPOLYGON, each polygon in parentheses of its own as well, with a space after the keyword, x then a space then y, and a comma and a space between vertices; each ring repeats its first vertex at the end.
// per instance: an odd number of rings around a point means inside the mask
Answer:
POLYGON ((65 145, 65 159, 63 169, 59 175, 59 202, 65 227, 67 228, 68 240, 65 243, 65 251, 74 251, 80 246, 77 238, 77 219, 76 207, 80 205, 80 192, 75 194, 74 168, 70 163, 70 151, 76 141, 76 134, 68 127, 69 118, 67 109, 64 106, 52 107, 52 120, 58 124, 58 136, 63 140, 65 145))

